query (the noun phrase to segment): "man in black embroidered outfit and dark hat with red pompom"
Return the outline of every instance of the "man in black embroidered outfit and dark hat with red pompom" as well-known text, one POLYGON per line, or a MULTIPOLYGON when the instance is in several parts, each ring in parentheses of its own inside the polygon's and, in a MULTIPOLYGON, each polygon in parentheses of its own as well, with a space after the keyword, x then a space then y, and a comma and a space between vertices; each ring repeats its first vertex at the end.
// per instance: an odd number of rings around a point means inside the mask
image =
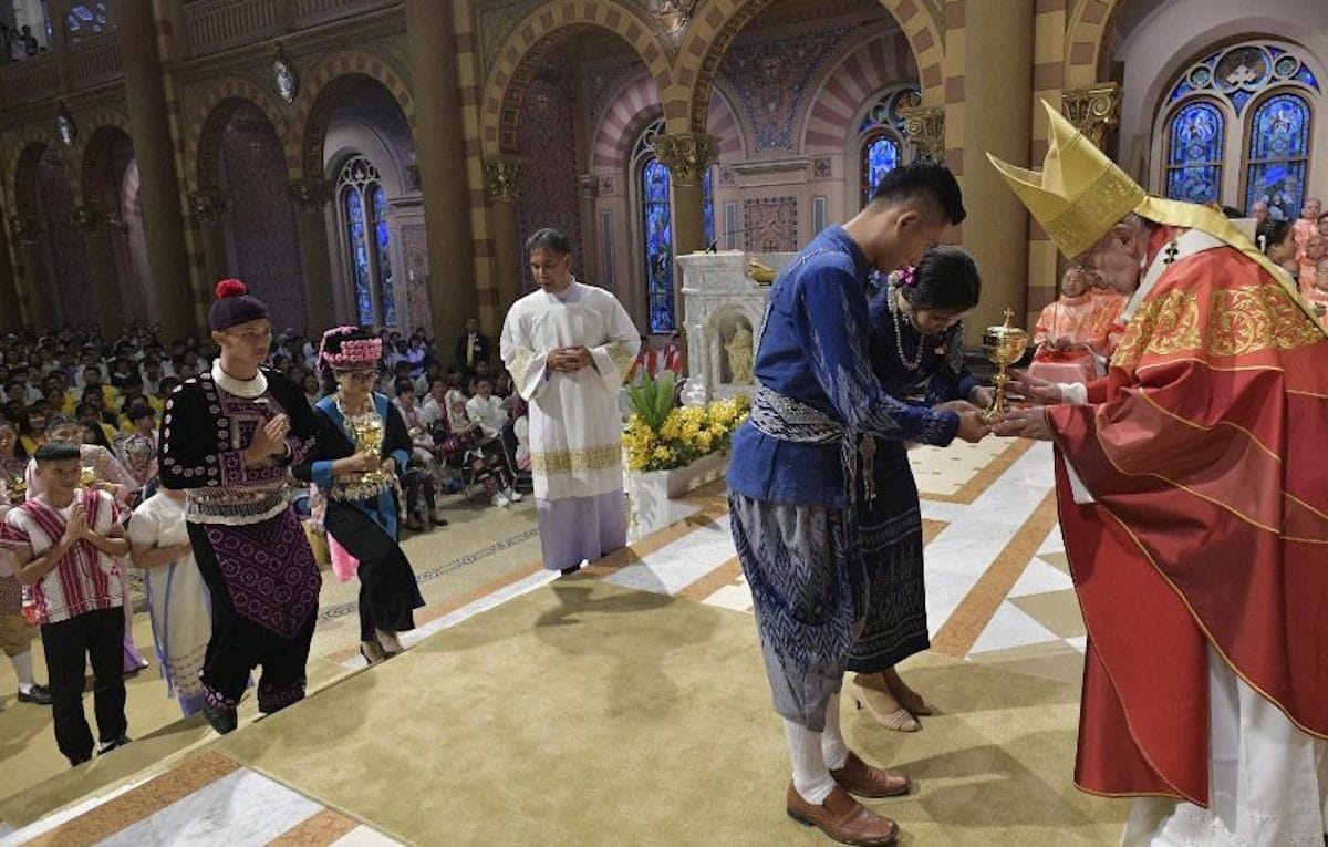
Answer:
POLYGON ((317 418, 299 385, 260 366, 272 321, 246 292, 239 280, 216 285, 208 325, 222 354, 170 396, 161 437, 161 483, 187 493, 189 538, 212 601, 203 714, 219 733, 235 729, 256 665, 260 712, 304 697, 323 584, 286 497, 317 418))

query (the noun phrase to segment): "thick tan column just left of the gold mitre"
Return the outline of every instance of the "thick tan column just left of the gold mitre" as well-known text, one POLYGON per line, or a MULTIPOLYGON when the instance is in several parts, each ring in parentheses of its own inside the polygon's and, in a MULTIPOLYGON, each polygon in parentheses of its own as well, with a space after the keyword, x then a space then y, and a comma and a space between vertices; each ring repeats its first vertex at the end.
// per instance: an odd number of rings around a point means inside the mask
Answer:
MULTIPOLYGON (((946 88, 947 98, 959 94, 963 104, 960 183, 969 214, 963 243, 983 270, 984 283, 981 303, 965 320, 965 341, 977 344, 983 328, 1000 324, 1005 309, 1025 313, 1029 218, 987 154, 1028 166, 1033 0, 951 3, 946 17, 963 49, 963 77, 957 84, 947 80, 946 88)), ((948 37, 946 44, 948 50, 948 37)))

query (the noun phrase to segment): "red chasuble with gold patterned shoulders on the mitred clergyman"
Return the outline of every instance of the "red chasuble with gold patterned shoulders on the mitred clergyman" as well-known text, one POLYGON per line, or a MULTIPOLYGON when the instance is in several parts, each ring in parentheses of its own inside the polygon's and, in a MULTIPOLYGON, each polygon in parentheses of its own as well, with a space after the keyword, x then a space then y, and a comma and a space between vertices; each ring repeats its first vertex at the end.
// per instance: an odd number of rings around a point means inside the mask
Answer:
POLYGON ((1048 416, 1089 635, 1076 783, 1208 805, 1208 644, 1328 735, 1328 341, 1309 317, 1236 250, 1183 256, 1090 405, 1048 416), (1066 461, 1096 502, 1074 503, 1066 461))

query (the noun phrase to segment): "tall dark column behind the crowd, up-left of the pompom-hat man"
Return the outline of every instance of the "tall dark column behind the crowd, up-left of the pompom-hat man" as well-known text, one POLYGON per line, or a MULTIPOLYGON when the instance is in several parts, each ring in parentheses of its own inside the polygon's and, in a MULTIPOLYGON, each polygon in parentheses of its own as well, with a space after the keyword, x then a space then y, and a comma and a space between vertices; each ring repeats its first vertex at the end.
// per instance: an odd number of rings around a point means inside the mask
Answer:
POLYGON ((120 54, 125 69, 129 133, 138 157, 139 198, 143 203, 143 231, 155 316, 162 327, 162 337, 169 343, 197 328, 179 177, 175 173, 175 149, 170 135, 171 113, 166 105, 153 5, 117 4, 116 23, 120 27, 120 54))

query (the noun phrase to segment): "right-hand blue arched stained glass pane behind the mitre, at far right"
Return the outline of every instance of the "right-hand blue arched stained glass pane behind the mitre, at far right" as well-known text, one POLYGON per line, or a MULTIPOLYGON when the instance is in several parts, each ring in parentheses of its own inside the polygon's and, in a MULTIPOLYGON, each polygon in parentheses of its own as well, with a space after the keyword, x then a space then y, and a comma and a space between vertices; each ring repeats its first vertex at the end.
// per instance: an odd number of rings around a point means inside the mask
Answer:
POLYGON ((1246 207, 1266 200, 1287 220, 1300 214, 1309 162, 1309 104, 1293 93, 1268 97, 1250 119, 1246 207))

